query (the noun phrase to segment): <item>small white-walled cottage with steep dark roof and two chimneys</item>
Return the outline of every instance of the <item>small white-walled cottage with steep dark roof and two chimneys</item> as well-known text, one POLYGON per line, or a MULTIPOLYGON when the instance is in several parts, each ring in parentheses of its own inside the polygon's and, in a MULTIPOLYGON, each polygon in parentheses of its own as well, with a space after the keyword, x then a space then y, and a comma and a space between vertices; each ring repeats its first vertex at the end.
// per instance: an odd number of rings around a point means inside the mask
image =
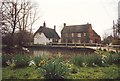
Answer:
POLYGON ((54 29, 46 27, 46 23, 34 33, 34 44, 48 44, 53 42, 58 42, 60 37, 56 32, 56 26, 54 29))

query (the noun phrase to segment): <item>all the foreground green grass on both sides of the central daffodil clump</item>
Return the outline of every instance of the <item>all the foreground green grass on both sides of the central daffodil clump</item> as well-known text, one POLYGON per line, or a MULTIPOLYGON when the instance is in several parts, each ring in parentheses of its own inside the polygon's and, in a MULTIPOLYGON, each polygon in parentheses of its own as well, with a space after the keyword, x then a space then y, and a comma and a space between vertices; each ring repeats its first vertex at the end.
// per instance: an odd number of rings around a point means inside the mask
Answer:
MULTIPOLYGON (((69 73, 66 79, 120 79, 118 71, 120 68, 116 65, 109 67, 78 67, 77 73, 69 73)), ((11 69, 9 66, 3 68, 3 79, 42 79, 44 76, 38 73, 35 67, 11 69)))

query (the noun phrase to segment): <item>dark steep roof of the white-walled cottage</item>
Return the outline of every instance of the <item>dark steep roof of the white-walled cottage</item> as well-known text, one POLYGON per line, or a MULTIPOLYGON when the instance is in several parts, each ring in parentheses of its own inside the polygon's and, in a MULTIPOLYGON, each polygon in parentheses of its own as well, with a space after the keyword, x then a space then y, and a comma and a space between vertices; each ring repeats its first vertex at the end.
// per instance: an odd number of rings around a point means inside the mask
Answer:
POLYGON ((54 29, 48 28, 48 27, 43 27, 41 26, 34 34, 34 36, 37 33, 44 33, 45 36, 47 38, 56 38, 56 39, 60 39, 59 35, 57 34, 57 32, 54 29))

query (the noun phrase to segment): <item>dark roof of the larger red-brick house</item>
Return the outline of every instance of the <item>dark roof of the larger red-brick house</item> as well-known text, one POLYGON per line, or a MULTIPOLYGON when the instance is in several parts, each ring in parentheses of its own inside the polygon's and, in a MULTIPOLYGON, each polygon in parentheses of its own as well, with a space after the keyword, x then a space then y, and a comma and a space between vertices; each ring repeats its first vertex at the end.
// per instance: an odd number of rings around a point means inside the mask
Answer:
POLYGON ((65 26, 62 33, 87 33, 91 24, 65 26))

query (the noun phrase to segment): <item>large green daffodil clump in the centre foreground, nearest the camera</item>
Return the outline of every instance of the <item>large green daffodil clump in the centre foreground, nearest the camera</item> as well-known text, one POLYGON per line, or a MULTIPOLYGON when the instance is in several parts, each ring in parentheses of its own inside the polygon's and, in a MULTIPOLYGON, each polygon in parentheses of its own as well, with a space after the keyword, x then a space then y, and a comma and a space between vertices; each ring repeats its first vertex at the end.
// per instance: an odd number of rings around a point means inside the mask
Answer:
POLYGON ((62 62, 61 57, 49 60, 42 68, 46 79, 64 79, 68 72, 68 66, 62 62))

